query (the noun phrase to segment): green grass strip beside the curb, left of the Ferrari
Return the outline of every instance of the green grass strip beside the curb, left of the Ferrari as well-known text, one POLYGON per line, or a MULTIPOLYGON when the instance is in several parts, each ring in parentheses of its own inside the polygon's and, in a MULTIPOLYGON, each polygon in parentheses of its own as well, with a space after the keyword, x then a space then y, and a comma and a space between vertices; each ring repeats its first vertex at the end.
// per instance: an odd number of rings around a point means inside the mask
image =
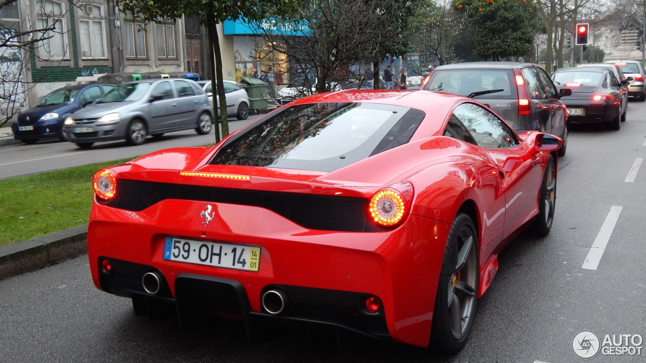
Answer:
POLYGON ((94 172, 132 159, 0 180, 0 245, 87 223, 94 172))

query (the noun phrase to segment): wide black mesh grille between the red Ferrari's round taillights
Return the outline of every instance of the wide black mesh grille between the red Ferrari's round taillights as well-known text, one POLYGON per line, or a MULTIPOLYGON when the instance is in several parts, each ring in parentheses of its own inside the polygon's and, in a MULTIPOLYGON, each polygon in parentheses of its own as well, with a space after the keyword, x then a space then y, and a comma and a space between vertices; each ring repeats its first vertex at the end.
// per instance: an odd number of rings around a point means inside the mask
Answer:
POLYGON ((248 191, 201 187, 196 185, 119 180, 116 196, 110 207, 143 211, 166 199, 198 200, 240 205, 253 205, 274 211, 309 229, 346 232, 382 232, 386 227, 375 225, 368 216, 369 201, 347 196, 321 196, 286 192, 248 191))

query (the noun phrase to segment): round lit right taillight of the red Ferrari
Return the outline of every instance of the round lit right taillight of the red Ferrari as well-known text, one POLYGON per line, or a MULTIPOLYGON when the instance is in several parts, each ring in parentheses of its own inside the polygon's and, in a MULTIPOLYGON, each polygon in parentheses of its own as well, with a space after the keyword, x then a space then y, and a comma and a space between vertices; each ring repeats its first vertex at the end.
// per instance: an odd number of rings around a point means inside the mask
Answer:
POLYGON ((396 225, 408 214, 412 195, 413 186, 405 182, 380 189, 370 200, 371 218, 380 225, 396 225))

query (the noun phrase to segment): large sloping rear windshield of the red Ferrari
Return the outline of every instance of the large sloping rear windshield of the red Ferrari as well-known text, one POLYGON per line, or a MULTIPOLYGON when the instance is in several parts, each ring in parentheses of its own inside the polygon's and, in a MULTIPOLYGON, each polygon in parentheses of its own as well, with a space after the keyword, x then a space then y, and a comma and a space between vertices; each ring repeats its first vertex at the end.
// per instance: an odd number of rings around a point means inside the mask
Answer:
POLYGON ((295 105, 233 135, 211 164, 335 171, 408 143, 423 118, 394 105, 295 105))

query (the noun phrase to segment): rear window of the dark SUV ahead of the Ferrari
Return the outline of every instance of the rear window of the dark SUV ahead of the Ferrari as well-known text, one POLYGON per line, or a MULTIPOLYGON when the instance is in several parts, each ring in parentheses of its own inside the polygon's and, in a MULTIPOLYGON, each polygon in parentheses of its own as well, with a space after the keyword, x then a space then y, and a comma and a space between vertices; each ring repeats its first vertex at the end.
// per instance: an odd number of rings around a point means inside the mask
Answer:
POLYGON ((474 96, 474 99, 517 98, 514 76, 505 69, 447 69, 436 70, 424 89, 469 96, 472 92, 500 90, 474 96))

